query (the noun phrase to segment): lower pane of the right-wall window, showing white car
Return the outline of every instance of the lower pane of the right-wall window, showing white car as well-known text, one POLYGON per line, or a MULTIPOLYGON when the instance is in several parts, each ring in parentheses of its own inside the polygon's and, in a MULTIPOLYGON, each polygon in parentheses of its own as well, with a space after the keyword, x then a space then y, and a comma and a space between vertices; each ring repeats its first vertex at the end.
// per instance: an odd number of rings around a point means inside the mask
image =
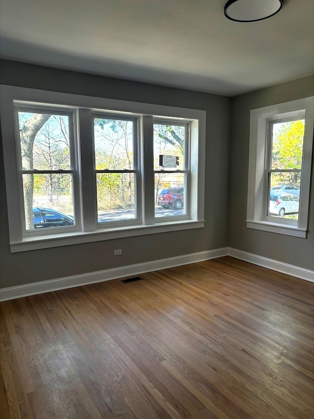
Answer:
POLYGON ((270 173, 268 215, 298 220, 301 172, 270 173))

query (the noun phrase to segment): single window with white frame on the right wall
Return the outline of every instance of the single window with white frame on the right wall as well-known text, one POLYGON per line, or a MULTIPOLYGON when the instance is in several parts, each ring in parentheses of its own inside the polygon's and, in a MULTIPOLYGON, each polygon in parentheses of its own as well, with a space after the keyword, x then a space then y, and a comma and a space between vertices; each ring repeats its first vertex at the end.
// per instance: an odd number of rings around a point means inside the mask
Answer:
POLYGON ((306 237, 314 97, 251 111, 247 226, 306 237))

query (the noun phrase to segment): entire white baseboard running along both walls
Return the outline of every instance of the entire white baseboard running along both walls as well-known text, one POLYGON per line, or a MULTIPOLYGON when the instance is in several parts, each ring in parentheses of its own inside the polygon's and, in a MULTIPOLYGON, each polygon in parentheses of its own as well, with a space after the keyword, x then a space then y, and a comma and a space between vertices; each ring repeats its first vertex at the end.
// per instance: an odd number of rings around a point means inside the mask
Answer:
POLYGON ((106 269, 104 271, 90 272, 88 274, 74 275, 71 277, 49 279, 47 281, 33 282, 25 285, 17 285, 0 289, 0 301, 14 300, 29 295, 42 294, 44 292, 57 291, 65 288, 73 288, 81 285, 88 285, 110 279, 125 278, 144 274, 146 272, 158 271, 160 269, 173 268, 175 266, 187 265, 189 263, 201 262, 203 260, 215 259, 222 256, 232 256, 264 268, 283 272, 293 277, 306 279, 314 282, 314 271, 279 262, 257 254, 240 251, 233 248, 221 248, 198 253, 184 254, 182 256, 169 257, 166 259, 153 260, 151 262, 137 263, 134 265, 122 266, 119 268, 106 269))

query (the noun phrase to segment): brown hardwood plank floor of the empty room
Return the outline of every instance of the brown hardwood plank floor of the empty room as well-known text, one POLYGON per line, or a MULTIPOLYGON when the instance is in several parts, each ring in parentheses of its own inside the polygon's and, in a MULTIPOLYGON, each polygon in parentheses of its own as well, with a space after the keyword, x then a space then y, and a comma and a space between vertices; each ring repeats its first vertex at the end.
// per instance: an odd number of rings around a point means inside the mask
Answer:
POLYGON ((0 303, 0 418, 314 418, 314 284, 231 257, 0 303))

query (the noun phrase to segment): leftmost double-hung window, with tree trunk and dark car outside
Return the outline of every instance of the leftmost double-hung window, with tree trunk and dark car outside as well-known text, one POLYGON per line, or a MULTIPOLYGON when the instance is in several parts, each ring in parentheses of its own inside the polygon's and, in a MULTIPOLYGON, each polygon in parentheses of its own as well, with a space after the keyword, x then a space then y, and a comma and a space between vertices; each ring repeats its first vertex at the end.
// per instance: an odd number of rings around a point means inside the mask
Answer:
POLYGON ((59 227, 59 234, 69 227, 77 230, 74 112, 19 104, 14 109, 23 236, 38 237, 51 227, 59 227))

